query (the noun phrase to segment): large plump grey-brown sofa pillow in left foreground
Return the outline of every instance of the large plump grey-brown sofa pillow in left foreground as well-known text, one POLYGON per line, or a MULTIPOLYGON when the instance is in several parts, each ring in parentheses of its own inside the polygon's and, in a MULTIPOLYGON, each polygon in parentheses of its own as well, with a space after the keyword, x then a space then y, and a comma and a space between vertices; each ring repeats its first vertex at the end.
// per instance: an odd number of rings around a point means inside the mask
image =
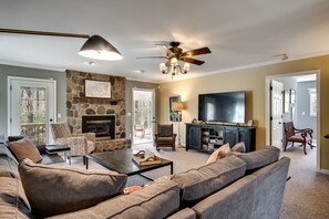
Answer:
POLYGON ((32 213, 44 218, 94 206, 123 192, 126 175, 23 160, 19 173, 32 213))

